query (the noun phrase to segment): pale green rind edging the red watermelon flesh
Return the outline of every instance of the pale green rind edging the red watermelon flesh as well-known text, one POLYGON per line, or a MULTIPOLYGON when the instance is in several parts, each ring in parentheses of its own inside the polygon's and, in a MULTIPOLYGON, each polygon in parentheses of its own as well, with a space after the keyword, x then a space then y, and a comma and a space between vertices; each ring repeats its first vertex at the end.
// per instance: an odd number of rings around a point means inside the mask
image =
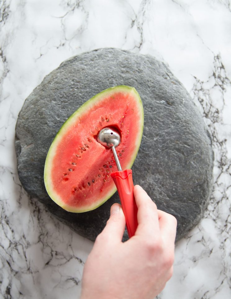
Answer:
POLYGON ((128 165, 128 168, 131 168, 135 158, 138 154, 138 150, 140 147, 140 143, 141 143, 141 139, 143 136, 143 125, 144 125, 144 113, 143 113, 143 104, 141 101, 141 98, 138 94, 138 92, 136 91, 136 89, 134 87, 131 86, 127 86, 127 85, 118 85, 118 86, 114 86, 114 87, 110 87, 107 88, 105 90, 103 90, 100 93, 97 93, 95 96, 93 96, 91 99, 89 99, 88 101, 86 101, 82 106, 80 106, 66 121, 65 123, 62 125, 62 127, 60 128, 60 130, 58 131, 57 135, 55 136, 47 157, 46 157, 46 161, 45 161, 45 166, 44 166, 44 183, 45 183, 45 188, 47 190, 48 195, 51 197, 51 199, 57 203, 57 205, 61 206, 64 210, 69 211, 69 212, 74 212, 74 213, 83 213, 83 212, 88 212, 88 211, 92 211, 94 209, 96 209, 97 207, 101 206, 104 202, 106 202, 115 192, 116 192, 116 187, 114 189, 111 190, 111 192, 109 194, 106 194, 106 199, 103 199, 102 202, 100 202, 99 204, 92 206, 89 209, 76 209, 73 208, 72 206, 69 205, 64 205, 62 200, 59 199, 58 194, 54 194, 55 192, 53 190, 50 189, 50 185, 49 184, 49 161, 52 161, 52 156, 53 153, 55 153, 55 148, 56 148, 56 143, 58 143, 58 141, 61 139, 62 135, 65 134, 65 129, 68 128, 70 126, 70 124, 72 123, 72 121, 74 122, 74 120, 80 116, 83 112, 86 112, 88 109, 90 109, 94 103, 98 102, 99 98, 104 98, 107 94, 110 94, 112 91, 121 91, 121 90, 125 90, 126 92, 134 92, 134 94, 136 95, 136 99, 138 100, 139 106, 140 106, 140 120, 142 123, 142 126, 140 127, 140 134, 138 136, 138 140, 137 140, 137 150, 136 152, 134 152, 133 156, 131 157, 130 163, 128 165))

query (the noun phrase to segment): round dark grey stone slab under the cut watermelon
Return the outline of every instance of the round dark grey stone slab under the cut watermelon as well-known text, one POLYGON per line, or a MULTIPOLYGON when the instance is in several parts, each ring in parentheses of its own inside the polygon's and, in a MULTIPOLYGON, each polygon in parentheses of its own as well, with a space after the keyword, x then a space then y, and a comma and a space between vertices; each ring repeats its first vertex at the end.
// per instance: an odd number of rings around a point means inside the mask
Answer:
MULTIPOLYGON (((110 215, 117 192, 94 211, 64 211, 48 196, 43 168, 53 138, 85 101, 115 85, 134 86, 143 102, 144 130, 132 167, 159 209, 177 218, 177 240, 202 218, 213 169, 211 137, 183 85, 167 66, 149 55, 113 48, 83 53, 64 61, 25 100, 16 124, 16 156, 25 190, 59 220, 94 240, 110 215)), ((125 232, 124 240, 126 240, 125 232)))

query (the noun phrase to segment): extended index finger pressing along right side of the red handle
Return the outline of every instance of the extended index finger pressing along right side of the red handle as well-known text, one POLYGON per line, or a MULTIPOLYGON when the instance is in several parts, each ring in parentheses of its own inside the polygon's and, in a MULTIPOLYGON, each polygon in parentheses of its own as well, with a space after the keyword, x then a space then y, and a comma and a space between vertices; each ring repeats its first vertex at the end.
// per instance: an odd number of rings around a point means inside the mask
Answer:
POLYGON ((155 236, 159 231, 159 217, 156 204, 139 185, 134 186, 134 197, 138 207, 138 228, 136 234, 155 236))

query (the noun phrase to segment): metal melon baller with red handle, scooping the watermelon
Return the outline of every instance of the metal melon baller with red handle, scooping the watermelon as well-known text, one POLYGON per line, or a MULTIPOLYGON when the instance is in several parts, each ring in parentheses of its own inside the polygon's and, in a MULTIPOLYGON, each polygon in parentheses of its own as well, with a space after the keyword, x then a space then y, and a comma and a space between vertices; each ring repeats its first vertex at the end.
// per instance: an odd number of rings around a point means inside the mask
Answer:
POLYGON ((116 184, 119 193, 120 202, 124 211, 126 226, 129 238, 134 236, 137 229, 137 206, 133 194, 132 170, 122 170, 119 158, 116 153, 116 147, 120 144, 120 134, 111 128, 103 128, 99 131, 97 141, 104 147, 111 148, 116 161, 118 171, 112 172, 111 177, 116 184))

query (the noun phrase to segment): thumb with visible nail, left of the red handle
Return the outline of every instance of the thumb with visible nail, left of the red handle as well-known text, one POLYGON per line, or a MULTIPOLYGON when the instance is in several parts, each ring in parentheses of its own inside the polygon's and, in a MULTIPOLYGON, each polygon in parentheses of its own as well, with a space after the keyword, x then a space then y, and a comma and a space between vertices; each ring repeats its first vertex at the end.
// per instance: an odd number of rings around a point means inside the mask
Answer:
POLYGON ((111 206, 111 215, 107 220, 102 233, 113 237, 113 240, 121 242, 125 230, 125 216, 122 207, 118 203, 111 206))

